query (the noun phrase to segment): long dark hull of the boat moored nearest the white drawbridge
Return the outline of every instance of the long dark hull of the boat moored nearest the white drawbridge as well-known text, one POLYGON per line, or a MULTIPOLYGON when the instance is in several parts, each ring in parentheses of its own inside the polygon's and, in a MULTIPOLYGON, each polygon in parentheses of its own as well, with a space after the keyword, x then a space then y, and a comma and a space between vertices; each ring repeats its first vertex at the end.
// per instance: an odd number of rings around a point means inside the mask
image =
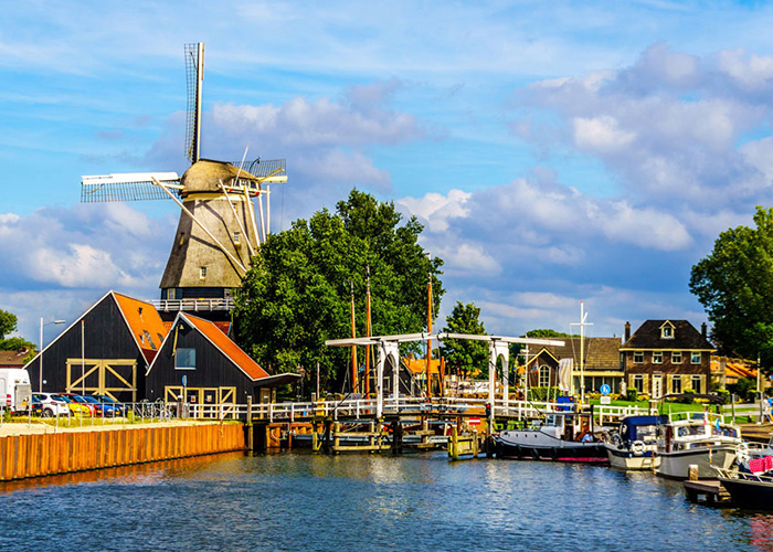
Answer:
POLYGON ((603 443, 575 443, 538 431, 504 432, 496 438, 497 458, 608 464, 603 443))

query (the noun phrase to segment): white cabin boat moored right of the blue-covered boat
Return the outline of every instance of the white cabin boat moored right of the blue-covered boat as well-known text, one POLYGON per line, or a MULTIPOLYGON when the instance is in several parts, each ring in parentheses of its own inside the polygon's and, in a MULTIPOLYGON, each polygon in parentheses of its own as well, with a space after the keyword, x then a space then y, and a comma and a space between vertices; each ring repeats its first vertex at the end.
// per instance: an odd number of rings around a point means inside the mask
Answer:
POLYGON ((661 427, 656 474, 671 479, 687 479, 690 465, 698 466, 699 479, 716 478, 714 468, 730 468, 743 446, 740 427, 726 424, 720 416, 698 414, 671 420, 661 427))

